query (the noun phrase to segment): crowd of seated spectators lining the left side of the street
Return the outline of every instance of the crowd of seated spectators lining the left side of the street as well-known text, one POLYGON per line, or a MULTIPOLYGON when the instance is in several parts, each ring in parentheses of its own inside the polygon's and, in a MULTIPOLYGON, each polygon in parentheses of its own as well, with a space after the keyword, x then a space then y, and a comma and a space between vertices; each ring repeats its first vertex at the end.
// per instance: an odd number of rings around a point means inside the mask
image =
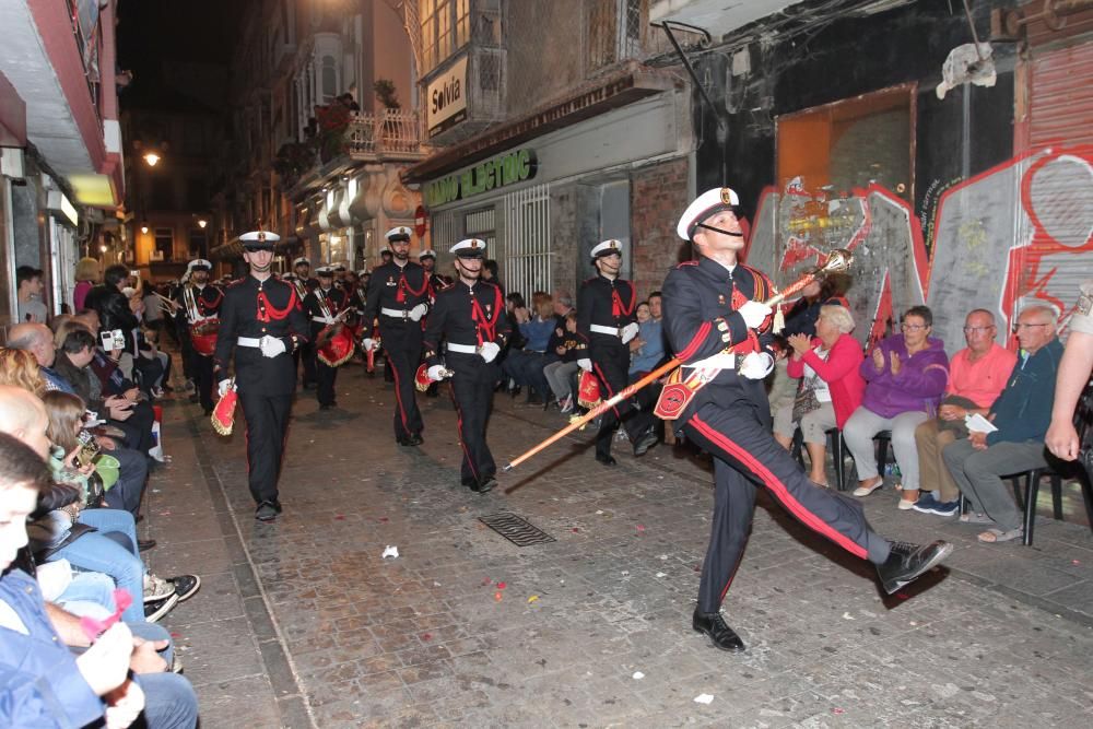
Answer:
POLYGON ((200 578, 152 574, 141 555, 155 540, 138 536, 165 461, 162 307, 125 267, 92 264, 75 313, 55 317, 35 306, 42 272, 20 268, 20 321, 0 349, 0 724, 195 727, 197 697, 154 623, 200 578))

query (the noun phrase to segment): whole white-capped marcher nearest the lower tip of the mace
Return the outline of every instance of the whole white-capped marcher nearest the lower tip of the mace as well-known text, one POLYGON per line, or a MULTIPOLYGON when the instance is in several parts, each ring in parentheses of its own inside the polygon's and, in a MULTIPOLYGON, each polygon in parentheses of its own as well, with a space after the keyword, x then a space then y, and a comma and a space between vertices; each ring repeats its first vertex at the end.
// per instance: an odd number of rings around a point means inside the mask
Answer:
POLYGON ((508 337, 508 317, 501 289, 480 280, 485 242, 460 240, 456 255, 458 281, 436 293, 436 306, 425 325, 425 363, 434 383, 451 374, 459 443, 463 449, 460 482, 485 493, 497 485, 497 465, 485 444, 485 424, 493 385, 501 376, 496 360, 508 337), (447 356, 440 357, 440 340, 447 356))

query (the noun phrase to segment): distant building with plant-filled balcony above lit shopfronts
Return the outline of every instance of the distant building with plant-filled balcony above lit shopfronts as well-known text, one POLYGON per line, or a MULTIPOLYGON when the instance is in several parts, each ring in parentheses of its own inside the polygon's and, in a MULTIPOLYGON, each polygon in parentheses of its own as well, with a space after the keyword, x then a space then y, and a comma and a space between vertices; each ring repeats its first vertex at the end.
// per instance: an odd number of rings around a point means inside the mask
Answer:
POLYGON ((402 168, 421 160, 413 54, 381 0, 279 0, 248 15, 233 60, 232 132, 212 255, 238 256, 259 223, 297 255, 354 270, 420 204, 402 168))

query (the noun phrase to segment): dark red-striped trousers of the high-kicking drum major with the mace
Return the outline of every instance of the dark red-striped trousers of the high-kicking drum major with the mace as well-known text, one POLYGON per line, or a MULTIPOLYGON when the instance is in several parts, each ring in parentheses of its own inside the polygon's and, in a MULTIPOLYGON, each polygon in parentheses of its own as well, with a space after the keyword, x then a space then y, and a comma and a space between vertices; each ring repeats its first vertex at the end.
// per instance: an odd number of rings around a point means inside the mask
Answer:
POLYGON ((755 486, 766 486, 792 516, 850 554, 873 563, 888 558, 888 541, 866 521, 861 504, 816 486, 771 434, 763 384, 753 380, 762 404, 737 400, 697 405, 683 426, 687 438, 714 456, 714 517, 702 566, 698 610, 717 612, 743 556, 755 509, 755 486))

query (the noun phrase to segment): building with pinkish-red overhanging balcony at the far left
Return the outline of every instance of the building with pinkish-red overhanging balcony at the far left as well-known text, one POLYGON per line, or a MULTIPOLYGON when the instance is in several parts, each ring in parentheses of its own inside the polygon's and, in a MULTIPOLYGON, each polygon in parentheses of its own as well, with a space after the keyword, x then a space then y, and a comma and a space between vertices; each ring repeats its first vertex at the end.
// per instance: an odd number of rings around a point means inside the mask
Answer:
POLYGON ((44 271, 45 304, 56 314, 72 304, 80 257, 119 260, 115 7, 0 4, 0 327, 15 316, 17 267, 44 271))

